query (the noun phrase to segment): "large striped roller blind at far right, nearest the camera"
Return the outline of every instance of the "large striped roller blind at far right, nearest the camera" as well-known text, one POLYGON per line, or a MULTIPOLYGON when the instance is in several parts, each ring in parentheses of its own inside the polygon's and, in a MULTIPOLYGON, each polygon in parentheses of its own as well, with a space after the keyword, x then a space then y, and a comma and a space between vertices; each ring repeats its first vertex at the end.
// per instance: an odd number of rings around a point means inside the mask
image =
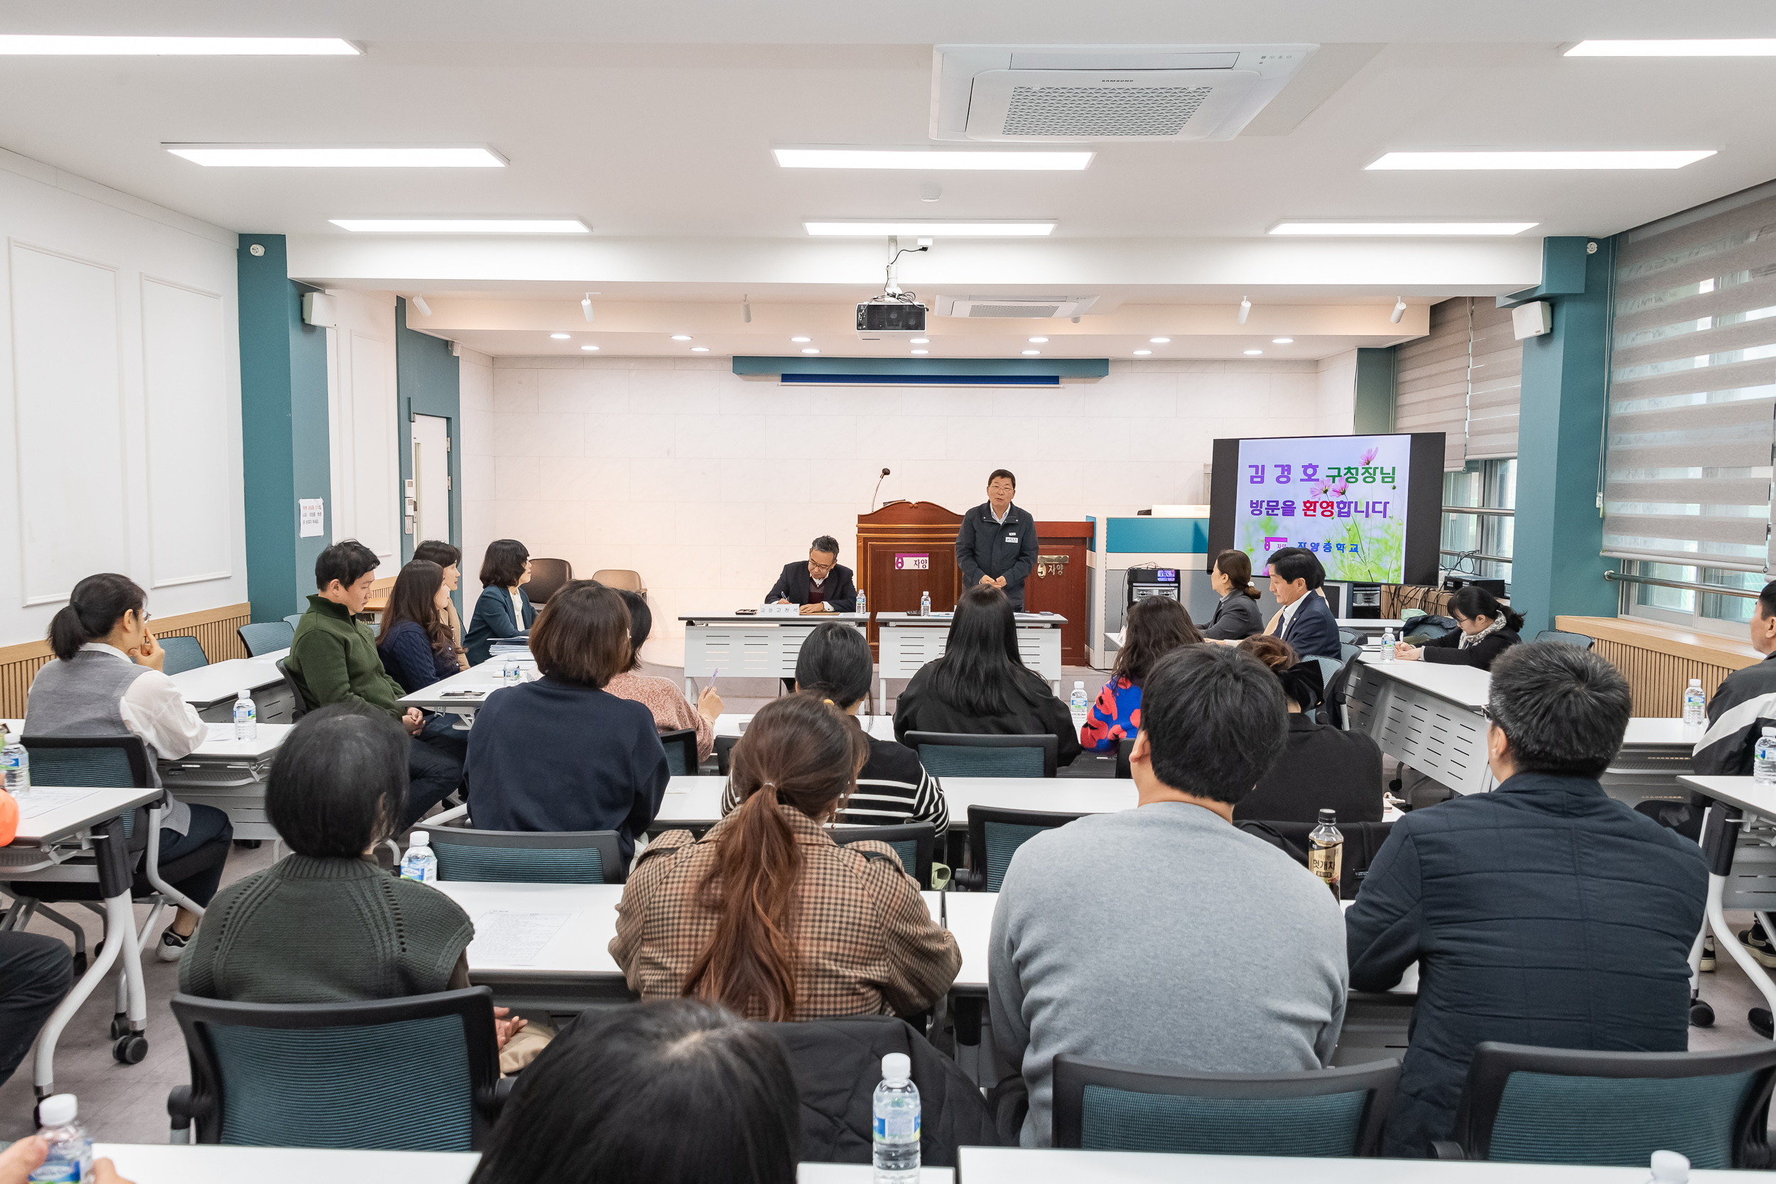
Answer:
POLYGON ((1776 186, 1616 252, 1604 554, 1769 570, 1776 186))

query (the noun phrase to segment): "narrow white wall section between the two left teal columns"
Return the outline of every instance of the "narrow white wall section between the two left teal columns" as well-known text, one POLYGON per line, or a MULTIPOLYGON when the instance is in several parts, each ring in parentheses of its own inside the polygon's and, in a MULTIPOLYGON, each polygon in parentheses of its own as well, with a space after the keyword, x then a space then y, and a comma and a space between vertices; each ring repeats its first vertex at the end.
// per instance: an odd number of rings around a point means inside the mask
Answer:
POLYGON ((332 536, 377 552, 377 575, 401 568, 403 433, 394 394, 394 293, 332 293, 339 325, 327 330, 327 428, 332 536))

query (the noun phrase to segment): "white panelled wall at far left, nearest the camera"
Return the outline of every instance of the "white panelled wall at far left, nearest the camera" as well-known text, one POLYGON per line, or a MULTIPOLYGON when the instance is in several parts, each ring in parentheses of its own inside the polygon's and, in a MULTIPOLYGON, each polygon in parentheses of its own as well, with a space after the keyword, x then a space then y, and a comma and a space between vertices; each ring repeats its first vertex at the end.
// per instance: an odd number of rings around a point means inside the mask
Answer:
POLYGON ((247 600, 233 233, 0 151, 0 644, 123 572, 247 600))

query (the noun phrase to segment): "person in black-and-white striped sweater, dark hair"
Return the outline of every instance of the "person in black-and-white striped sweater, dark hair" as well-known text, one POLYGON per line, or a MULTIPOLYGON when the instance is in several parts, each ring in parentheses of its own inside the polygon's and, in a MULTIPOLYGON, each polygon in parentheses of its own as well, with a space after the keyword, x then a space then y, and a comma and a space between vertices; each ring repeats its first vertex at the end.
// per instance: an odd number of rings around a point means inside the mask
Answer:
MULTIPOLYGON (((828 621, 808 634, 796 659, 796 691, 828 699, 856 722, 870 694, 870 643, 851 625, 828 621)), ((861 730, 861 724, 858 724, 861 730)), ((929 822, 941 840, 950 829, 950 808, 918 754, 904 744, 868 737, 870 760, 858 774, 858 788, 836 822, 852 825, 899 825, 929 822)), ((721 815, 739 806, 733 783, 721 793, 721 815)))

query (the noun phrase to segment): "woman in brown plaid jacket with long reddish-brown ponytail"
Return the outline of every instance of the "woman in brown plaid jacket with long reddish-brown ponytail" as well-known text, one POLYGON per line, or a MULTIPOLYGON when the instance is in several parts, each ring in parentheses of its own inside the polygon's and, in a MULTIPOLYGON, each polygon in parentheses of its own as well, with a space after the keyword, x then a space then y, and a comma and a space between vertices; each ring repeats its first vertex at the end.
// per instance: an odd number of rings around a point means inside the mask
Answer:
POLYGON ((868 742, 831 703, 767 703, 733 746, 741 806, 703 838, 668 831, 636 861, 611 957, 643 999, 748 1019, 911 1015, 963 966, 886 843, 838 847, 868 742))

